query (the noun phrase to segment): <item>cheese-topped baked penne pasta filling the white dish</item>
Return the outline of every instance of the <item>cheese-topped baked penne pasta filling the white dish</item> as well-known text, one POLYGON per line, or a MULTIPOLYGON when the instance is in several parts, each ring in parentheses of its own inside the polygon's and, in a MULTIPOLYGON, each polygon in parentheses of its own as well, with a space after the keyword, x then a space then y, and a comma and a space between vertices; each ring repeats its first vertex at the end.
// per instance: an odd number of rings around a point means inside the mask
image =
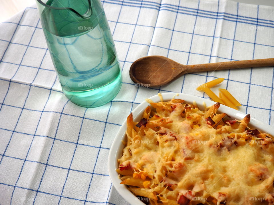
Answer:
POLYGON ((184 100, 151 102, 127 118, 121 184, 146 204, 274 204, 274 144, 243 120, 184 100))

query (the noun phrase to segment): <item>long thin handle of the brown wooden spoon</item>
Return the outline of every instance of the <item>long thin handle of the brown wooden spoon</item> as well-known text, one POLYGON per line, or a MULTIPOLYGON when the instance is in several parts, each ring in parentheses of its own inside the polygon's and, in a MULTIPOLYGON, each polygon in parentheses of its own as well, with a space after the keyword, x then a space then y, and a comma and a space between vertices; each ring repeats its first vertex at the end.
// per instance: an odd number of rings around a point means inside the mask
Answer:
POLYGON ((263 67, 263 66, 274 66, 274 58, 187 65, 185 70, 187 72, 201 72, 201 71, 225 70, 225 69, 247 68, 247 67, 263 67))

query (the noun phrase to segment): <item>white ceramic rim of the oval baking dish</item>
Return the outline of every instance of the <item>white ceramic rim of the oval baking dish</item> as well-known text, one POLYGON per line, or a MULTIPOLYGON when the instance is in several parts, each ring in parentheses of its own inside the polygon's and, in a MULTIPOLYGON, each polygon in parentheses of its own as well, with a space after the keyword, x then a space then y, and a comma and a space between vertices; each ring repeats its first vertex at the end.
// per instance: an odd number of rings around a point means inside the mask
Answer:
MULTIPOLYGON (((182 99, 186 103, 193 103, 193 101, 196 101, 199 109, 203 109, 203 102, 206 103, 206 106, 211 106, 215 104, 216 102, 211 101, 209 99, 204 99, 198 96, 184 94, 184 93, 162 93, 161 94, 164 101, 171 100, 172 98, 175 99, 182 99)), ((160 102, 159 95, 154 95, 150 97, 152 101, 155 103, 160 102)), ((146 101, 143 101, 140 103, 133 111, 133 120, 135 122, 138 122, 141 119, 141 116, 144 112, 144 109, 149 106, 150 104, 146 101)), ((246 114, 243 112, 240 112, 239 110, 235 110, 233 108, 227 107, 225 105, 220 105, 219 112, 227 113, 229 116, 231 116, 234 119, 241 120, 243 119, 246 114)), ((274 136, 274 127, 267 125, 259 120, 256 120, 254 118, 250 119, 249 125, 252 128, 257 128, 265 133, 268 133, 272 136, 274 136)), ((119 179, 119 174, 116 172, 116 169, 118 168, 118 162, 117 159, 119 159, 122 156, 122 151, 125 147, 124 144, 122 144, 121 140, 126 139, 126 120, 123 122, 122 126, 118 130, 114 141, 112 142, 109 155, 108 155, 108 173, 110 180, 113 183, 113 186, 117 190, 117 192, 131 205, 144 205, 143 202, 141 202, 132 192, 130 192, 126 185, 120 184, 121 179, 119 179)))

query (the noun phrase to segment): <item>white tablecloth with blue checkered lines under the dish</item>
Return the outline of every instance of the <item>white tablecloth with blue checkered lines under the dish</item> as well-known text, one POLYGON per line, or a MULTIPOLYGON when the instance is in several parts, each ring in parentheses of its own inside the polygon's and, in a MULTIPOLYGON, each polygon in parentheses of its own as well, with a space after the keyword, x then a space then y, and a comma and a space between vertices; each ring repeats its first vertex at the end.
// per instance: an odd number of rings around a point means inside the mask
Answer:
MULTIPOLYGON (((158 92, 196 91, 224 77, 240 111, 273 126, 273 67, 189 73, 158 88, 136 87, 132 62, 147 55, 183 64, 273 58, 274 9, 226 0, 102 1, 123 75, 100 108, 63 95, 35 6, 0 24, 0 204, 127 204, 107 157, 126 116, 158 92)), ((217 93, 217 87, 213 88, 217 93)))

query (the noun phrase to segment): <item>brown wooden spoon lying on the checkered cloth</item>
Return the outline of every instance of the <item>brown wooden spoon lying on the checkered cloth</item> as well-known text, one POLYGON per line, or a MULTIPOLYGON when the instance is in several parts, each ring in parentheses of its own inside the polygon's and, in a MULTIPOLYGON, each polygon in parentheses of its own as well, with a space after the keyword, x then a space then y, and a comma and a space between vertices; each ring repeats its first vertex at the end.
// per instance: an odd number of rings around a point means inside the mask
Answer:
POLYGON ((183 65, 164 56, 146 56, 132 63, 129 76, 140 86, 158 87, 186 73, 273 65, 274 58, 183 65))

